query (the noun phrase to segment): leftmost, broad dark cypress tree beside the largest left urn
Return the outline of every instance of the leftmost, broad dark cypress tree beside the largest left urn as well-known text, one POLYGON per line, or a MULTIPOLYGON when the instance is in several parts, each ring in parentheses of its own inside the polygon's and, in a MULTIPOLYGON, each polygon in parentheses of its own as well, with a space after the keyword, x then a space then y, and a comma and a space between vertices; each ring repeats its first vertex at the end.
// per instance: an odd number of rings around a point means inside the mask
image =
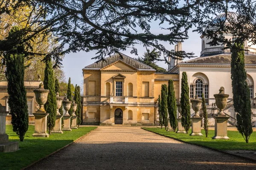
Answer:
MULTIPOLYGON (((13 27, 9 32, 9 37, 13 36, 15 41, 18 40, 15 35, 17 35, 16 31, 19 30, 19 27, 13 27)), ((21 142, 23 142, 29 127, 26 89, 24 86, 24 52, 23 45, 17 45, 17 47, 14 47, 4 55, 6 62, 5 74, 8 82, 7 91, 9 94, 8 104, 12 115, 12 130, 19 136, 21 142)))

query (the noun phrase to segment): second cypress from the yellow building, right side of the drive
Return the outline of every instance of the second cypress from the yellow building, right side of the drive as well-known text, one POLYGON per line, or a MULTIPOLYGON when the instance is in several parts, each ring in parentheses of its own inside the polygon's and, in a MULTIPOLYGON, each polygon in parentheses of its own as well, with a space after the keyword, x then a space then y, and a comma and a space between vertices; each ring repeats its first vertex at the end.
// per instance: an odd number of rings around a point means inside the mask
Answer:
POLYGON ((163 116, 163 125, 168 130, 168 109, 167 109, 167 85, 162 85, 161 89, 161 113, 163 116))

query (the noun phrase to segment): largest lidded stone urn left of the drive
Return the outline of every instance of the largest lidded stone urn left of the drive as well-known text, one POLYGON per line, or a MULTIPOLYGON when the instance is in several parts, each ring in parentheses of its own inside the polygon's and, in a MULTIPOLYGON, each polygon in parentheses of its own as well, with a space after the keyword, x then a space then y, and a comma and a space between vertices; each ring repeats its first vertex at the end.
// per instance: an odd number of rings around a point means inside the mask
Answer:
POLYGON ((40 105, 40 108, 36 112, 45 113, 44 104, 47 102, 49 90, 44 89, 44 84, 41 82, 39 88, 34 90, 34 93, 35 100, 40 105))

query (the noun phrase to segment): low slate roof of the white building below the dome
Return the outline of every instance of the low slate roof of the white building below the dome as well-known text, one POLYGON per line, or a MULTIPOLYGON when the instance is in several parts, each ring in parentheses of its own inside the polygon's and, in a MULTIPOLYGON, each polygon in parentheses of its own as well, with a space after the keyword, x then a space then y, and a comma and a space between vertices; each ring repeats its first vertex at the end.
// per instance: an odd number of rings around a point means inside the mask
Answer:
MULTIPOLYGON (((256 64, 256 55, 244 55, 245 64, 256 64)), ((180 64, 230 64, 231 54, 219 54, 215 56, 198 57, 180 64)))

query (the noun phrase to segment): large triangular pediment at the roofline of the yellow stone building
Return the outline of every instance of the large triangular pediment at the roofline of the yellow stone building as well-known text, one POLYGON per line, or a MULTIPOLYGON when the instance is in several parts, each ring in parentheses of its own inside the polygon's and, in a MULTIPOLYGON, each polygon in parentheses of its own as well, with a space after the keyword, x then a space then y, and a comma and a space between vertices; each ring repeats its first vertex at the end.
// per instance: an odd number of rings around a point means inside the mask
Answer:
POLYGON ((100 69, 100 70, 122 70, 122 71, 137 71, 137 68, 134 68, 131 65, 128 65, 127 63, 118 60, 110 65, 107 65, 106 67, 100 69))

